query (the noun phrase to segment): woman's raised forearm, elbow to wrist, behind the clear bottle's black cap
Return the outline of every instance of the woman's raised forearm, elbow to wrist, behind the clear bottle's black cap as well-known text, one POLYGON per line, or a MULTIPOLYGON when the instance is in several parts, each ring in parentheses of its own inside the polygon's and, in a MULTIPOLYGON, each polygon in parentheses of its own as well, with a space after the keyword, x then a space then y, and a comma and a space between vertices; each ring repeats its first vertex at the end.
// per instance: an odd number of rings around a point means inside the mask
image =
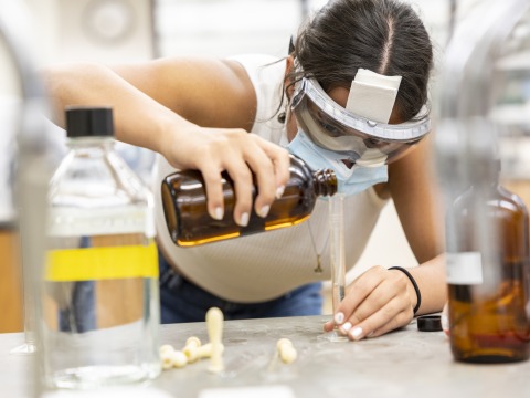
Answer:
POLYGON ((177 132, 193 127, 103 65, 62 65, 46 70, 44 78, 61 126, 68 105, 112 106, 117 139, 159 153, 167 146, 167 132, 174 139, 177 132))

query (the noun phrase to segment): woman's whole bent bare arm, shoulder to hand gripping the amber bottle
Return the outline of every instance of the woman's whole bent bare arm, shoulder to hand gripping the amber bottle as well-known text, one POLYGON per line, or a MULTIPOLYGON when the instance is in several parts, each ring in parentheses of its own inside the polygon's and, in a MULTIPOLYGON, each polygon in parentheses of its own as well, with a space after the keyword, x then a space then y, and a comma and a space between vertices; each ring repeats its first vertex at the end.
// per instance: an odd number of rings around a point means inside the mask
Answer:
POLYGON ((162 59, 113 70, 73 64, 49 69, 45 75, 60 115, 70 104, 112 105, 117 139, 158 151, 178 169, 200 170, 215 219, 224 213, 224 170, 235 184, 239 224, 246 224, 252 211, 253 174, 259 192, 254 209, 262 217, 287 184, 286 149, 243 128, 199 126, 250 128, 255 93, 236 62, 162 59))

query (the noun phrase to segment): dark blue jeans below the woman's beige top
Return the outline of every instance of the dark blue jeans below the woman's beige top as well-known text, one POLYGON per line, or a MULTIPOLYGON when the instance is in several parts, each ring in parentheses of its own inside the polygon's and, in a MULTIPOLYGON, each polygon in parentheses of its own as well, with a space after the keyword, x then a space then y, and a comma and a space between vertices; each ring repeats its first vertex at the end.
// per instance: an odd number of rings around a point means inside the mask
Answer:
MULTIPOLYGON (((162 324, 203 322, 206 311, 219 307, 225 320, 320 315, 321 282, 298 287, 278 298, 261 303, 234 303, 220 298, 174 272, 159 251, 160 315, 162 324)), ((197 266, 200 266, 198 264, 197 266)), ((257 283, 257 281, 256 281, 257 283)))

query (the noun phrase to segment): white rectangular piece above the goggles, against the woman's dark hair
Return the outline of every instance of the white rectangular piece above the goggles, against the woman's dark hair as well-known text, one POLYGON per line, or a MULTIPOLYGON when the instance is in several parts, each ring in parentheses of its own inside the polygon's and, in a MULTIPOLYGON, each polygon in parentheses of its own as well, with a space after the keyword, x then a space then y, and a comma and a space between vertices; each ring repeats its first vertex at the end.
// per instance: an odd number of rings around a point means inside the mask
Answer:
POLYGON ((359 69, 351 82, 346 108, 369 121, 388 124, 400 84, 401 76, 384 76, 359 69))

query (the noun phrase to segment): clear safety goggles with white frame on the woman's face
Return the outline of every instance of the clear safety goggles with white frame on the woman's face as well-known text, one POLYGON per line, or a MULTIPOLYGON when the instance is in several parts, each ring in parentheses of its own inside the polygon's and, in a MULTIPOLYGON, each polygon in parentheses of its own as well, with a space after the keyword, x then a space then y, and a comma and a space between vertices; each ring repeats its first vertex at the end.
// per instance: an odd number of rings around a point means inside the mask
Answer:
POLYGON ((290 106, 315 144, 364 167, 398 159, 431 130, 428 117, 384 124, 358 116, 331 100, 315 78, 296 83, 290 106))

